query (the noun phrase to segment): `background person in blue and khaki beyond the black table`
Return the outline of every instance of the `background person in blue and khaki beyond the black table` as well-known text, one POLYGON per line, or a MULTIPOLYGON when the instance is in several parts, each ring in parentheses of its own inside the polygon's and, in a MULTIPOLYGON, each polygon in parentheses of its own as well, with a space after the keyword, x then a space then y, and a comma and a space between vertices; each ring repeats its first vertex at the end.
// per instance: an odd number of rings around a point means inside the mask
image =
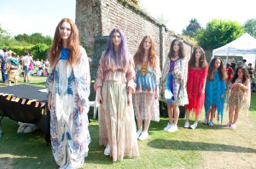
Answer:
POLYGON ((8 86, 11 85, 12 80, 15 81, 15 85, 18 84, 19 72, 18 66, 20 65, 19 61, 16 59, 16 53, 12 53, 9 58, 9 67, 8 67, 8 86))

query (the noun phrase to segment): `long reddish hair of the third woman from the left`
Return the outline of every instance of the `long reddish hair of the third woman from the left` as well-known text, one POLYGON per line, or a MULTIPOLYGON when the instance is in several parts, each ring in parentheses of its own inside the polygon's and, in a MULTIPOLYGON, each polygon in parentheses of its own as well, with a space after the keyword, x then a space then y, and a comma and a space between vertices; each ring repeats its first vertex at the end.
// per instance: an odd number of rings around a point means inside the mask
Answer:
POLYGON ((156 65, 156 54, 155 54, 155 49, 154 49, 154 40, 151 36, 147 35, 143 37, 142 42, 140 43, 139 47, 137 48, 137 52, 134 55, 134 63, 136 65, 142 64, 143 63, 143 56, 145 54, 145 49, 143 47, 143 43, 145 42, 146 39, 149 39, 151 42, 151 47, 149 49, 149 65, 151 67, 155 67, 156 65))

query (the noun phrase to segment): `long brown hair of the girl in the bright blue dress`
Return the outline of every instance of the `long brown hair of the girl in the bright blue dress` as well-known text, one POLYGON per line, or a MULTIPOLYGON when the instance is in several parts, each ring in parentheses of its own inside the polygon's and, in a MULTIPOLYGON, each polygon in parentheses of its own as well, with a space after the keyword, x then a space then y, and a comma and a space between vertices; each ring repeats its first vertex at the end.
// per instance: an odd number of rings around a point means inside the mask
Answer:
POLYGON ((214 70, 215 70, 215 61, 217 59, 220 60, 220 65, 218 67, 218 76, 219 76, 220 81, 224 81, 228 76, 227 72, 226 72, 226 69, 224 67, 224 64, 223 64, 223 60, 219 57, 213 58, 210 62, 210 65, 209 65, 209 71, 208 71, 208 77, 207 77, 209 81, 212 81, 213 78, 214 78, 213 73, 214 73, 214 70))

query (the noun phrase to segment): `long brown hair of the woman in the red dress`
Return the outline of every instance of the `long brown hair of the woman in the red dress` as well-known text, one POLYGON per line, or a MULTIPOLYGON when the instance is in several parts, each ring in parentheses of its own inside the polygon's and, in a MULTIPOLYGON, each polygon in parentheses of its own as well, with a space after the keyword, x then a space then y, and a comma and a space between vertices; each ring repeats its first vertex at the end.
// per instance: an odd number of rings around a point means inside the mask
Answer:
POLYGON ((206 55, 205 55, 205 51, 203 48, 201 48, 200 46, 199 47, 196 47, 193 51, 193 54, 191 55, 190 59, 189 59, 189 66, 190 67, 195 67, 195 52, 197 49, 200 49, 201 50, 201 57, 199 59, 199 67, 201 68, 205 68, 207 66, 207 58, 206 58, 206 55))

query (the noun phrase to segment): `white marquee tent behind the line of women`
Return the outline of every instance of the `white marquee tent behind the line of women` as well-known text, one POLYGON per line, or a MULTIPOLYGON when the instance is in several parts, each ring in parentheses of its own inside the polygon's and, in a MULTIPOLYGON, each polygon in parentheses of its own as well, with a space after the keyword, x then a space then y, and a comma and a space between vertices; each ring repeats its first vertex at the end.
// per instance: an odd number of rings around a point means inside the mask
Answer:
POLYGON ((214 56, 227 56, 226 62, 229 56, 242 56, 243 59, 247 59, 247 64, 252 63, 254 66, 256 59, 256 39, 245 33, 235 41, 212 50, 212 57, 214 56))

